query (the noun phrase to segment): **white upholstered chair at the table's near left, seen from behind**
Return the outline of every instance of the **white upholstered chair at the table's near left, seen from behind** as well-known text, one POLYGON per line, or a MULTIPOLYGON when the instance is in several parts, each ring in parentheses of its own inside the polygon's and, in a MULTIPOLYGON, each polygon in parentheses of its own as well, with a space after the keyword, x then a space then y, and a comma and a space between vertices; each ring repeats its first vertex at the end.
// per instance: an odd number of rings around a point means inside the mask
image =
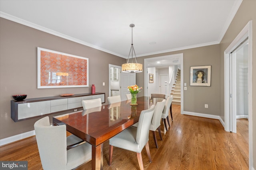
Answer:
POLYGON ((87 142, 67 150, 77 137, 66 137, 66 125, 50 126, 47 116, 36 121, 34 128, 44 170, 71 170, 91 160, 92 145, 87 142))

